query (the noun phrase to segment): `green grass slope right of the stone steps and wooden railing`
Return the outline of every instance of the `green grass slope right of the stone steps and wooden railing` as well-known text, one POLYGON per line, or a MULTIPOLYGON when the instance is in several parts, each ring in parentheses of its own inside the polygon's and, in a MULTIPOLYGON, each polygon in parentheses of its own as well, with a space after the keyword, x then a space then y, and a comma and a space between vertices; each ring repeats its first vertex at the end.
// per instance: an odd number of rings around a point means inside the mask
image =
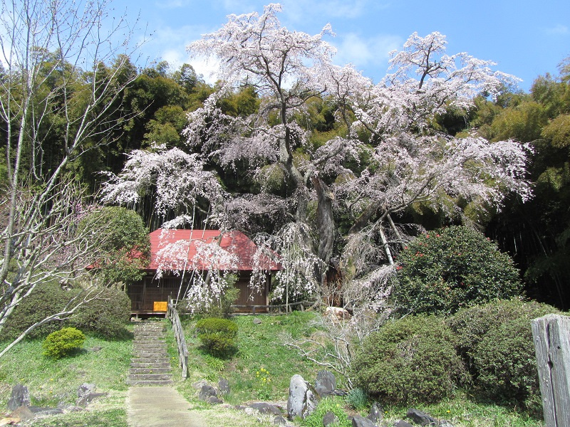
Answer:
MULTIPOLYGON (((301 374, 307 381, 314 382, 318 367, 284 343, 288 334, 301 337, 314 332, 317 316, 311 312, 294 312, 288 316, 259 315, 261 325, 255 325, 251 316, 236 316, 232 320, 239 327, 237 351, 225 359, 207 354, 196 337, 195 322, 186 321, 185 336, 192 377, 178 384, 180 391, 192 399, 196 393, 192 383, 201 379, 217 383, 223 377, 229 381, 231 389, 231 393, 224 396, 229 403, 286 400, 291 373, 301 374)), ((174 347, 173 341, 174 337, 169 332, 171 347, 174 347)), ((173 367, 179 370, 176 356, 175 352, 170 354, 173 367)))

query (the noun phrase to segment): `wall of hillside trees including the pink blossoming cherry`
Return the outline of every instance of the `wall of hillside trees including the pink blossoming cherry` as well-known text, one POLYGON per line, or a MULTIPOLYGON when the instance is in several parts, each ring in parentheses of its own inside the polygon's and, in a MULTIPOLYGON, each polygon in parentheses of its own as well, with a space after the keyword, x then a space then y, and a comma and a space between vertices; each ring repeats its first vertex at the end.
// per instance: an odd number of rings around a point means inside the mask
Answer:
MULTIPOLYGON (((151 231, 255 236, 287 254, 304 290, 385 283, 411 239, 465 224, 514 258, 529 297, 567 310, 570 58, 524 93, 492 63, 446 53, 442 34, 413 34, 373 84, 331 63, 328 28, 289 32, 278 14, 233 16, 190 46, 223 59, 215 85, 189 64, 140 69, 126 43, 77 50, 95 12, 57 38, 13 33, 19 54, 0 63, 1 279, 16 260, 37 273, 26 230, 65 223, 61 237, 73 215, 118 204, 151 231)), ((57 252, 41 255, 44 237, 38 262, 57 252)))

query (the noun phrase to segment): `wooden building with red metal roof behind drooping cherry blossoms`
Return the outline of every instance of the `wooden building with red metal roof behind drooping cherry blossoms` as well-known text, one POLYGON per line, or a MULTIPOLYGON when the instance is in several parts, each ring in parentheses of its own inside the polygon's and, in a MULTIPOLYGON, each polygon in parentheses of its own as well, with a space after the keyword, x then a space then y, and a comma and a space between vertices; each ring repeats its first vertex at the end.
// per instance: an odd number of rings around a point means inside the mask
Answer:
MULTIPOLYGON (((252 311, 254 305, 269 305, 271 273, 281 265, 262 257, 257 260, 266 273, 264 286, 254 288, 249 280, 254 269, 255 243, 240 231, 221 233, 219 230, 163 230, 150 233, 150 263, 146 275, 138 283, 128 287, 133 315, 160 315, 166 312, 170 299, 182 299, 193 274, 206 275, 209 268, 232 270, 237 273, 235 286, 239 296, 237 311, 252 311), (208 246, 209 245, 209 246, 208 246), (222 249, 225 258, 207 259, 212 249, 222 249), (231 262, 228 262, 231 260, 231 262), (162 268, 160 278, 157 275, 162 268), (177 271, 178 274, 172 274, 177 271)), ((211 255, 216 256, 216 255, 211 255)), ((259 308, 257 312, 263 311, 259 308)))

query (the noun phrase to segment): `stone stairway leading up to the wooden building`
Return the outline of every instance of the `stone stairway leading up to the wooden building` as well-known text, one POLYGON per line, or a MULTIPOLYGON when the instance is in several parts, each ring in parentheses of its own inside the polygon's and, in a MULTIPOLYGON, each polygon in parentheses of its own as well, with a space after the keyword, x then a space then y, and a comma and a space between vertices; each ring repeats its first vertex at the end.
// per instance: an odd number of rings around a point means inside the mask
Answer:
POLYGON ((141 322, 135 325, 133 359, 127 384, 131 386, 170 386, 170 362, 166 353, 164 325, 141 322))

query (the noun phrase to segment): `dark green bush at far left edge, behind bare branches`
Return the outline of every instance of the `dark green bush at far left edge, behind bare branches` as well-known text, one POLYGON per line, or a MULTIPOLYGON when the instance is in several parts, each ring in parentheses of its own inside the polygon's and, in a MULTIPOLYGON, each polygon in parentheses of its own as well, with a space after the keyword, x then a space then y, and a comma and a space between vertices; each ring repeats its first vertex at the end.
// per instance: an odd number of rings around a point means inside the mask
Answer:
MULTIPOLYGON (((28 327, 43 320, 48 315, 60 312, 77 295, 76 290, 62 290, 58 283, 41 283, 30 295, 21 300, 14 312, 6 320, 3 337, 14 339, 28 327)), ((61 329, 61 321, 43 324, 32 330, 28 337, 45 337, 50 332, 61 329)))

